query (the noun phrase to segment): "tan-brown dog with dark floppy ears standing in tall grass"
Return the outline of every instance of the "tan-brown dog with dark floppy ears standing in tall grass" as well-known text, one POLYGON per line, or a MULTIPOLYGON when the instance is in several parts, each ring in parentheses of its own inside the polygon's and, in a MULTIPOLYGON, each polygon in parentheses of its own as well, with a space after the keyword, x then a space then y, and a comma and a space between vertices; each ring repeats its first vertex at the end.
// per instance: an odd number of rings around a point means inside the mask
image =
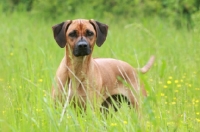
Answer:
MULTIPOLYGON (((136 70, 121 60, 92 58, 95 43, 100 47, 106 40, 107 25, 77 19, 52 28, 57 44, 66 48, 56 72, 56 86, 52 90, 54 99, 61 102, 76 100, 75 105, 86 108, 87 103, 107 106, 109 101, 106 99, 122 95, 137 107, 137 96, 140 91, 146 96, 146 91, 139 84, 136 70)), ((152 57, 140 71, 147 72, 153 61, 152 57)))

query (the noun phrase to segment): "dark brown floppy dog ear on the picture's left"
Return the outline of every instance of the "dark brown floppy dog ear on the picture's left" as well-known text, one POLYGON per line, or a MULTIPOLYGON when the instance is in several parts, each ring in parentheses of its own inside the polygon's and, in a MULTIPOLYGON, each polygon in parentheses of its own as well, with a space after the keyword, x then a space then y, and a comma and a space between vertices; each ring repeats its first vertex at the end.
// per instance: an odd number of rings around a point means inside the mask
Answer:
POLYGON ((67 43, 65 33, 71 22, 71 20, 67 20, 52 27, 54 39, 61 48, 64 48, 67 43))

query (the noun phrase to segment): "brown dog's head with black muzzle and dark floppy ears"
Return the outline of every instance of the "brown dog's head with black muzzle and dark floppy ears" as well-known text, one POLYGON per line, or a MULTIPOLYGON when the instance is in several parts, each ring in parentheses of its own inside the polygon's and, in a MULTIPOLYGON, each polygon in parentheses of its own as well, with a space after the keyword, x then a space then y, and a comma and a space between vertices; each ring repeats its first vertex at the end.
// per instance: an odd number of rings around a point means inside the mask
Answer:
POLYGON ((106 40, 108 26, 95 20, 67 20, 52 27, 57 44, 70 46, 73 55, 91 54, 94 44, 101 46, 106 40))

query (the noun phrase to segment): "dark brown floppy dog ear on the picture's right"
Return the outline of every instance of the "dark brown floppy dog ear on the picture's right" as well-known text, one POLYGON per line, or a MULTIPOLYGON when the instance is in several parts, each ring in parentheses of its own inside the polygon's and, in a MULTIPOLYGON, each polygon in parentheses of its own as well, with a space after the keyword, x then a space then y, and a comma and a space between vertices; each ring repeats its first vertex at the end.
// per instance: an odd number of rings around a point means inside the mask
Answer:
POLYGON ((106 40, 106 36, 108 33, 108 26, 106 24, 100 23, 95 20, 90 20, 90 23, 94 26, 97 34, 96 44, 97 46, 101 46, 106 40))

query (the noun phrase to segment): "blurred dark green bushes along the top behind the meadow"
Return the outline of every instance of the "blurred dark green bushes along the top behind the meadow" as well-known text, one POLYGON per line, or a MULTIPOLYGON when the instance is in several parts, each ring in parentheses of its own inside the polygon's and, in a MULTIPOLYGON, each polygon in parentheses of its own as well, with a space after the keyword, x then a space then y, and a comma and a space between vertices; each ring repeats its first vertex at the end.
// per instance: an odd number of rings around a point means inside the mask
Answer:
POLYGON ((200 0, 1 0, 0 5, 3 13, 29 12, 47 20, 84 17, 129 22, 156 16, 177 28, 191 28, 200 20, 200 0))

